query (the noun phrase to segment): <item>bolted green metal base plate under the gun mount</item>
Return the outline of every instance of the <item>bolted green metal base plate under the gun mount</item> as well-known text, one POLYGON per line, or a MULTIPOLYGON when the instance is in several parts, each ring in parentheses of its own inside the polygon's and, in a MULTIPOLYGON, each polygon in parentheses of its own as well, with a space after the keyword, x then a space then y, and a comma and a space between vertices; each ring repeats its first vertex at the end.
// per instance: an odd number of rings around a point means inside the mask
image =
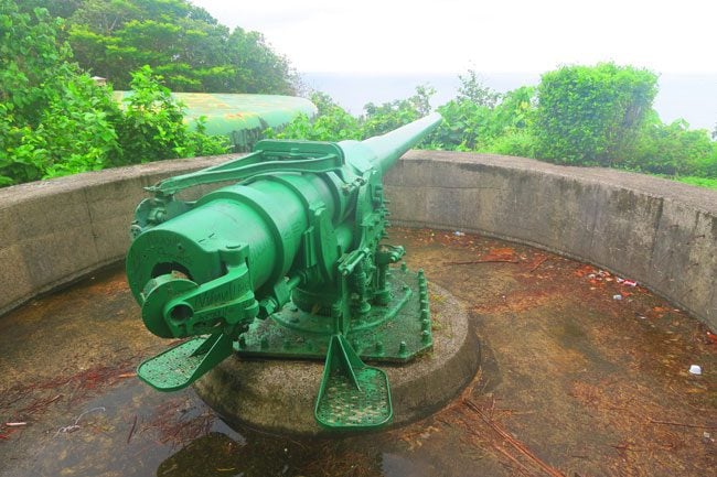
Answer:
MULTIPOLYGON (((346 339, 361 359, 406 362, 432 347, 430 317, 421 317, 421 306, 428 302, 425 299, 421 304, 419 275, 409 270, 392 269, 387 283, 389 303, 373 305, 365 318, 353 321, 346 339)), ((256 319, 235 346, 243 357, 323 360, 333 333, 331 317, 302 312, 289 303, 269 318, 256 319)))

